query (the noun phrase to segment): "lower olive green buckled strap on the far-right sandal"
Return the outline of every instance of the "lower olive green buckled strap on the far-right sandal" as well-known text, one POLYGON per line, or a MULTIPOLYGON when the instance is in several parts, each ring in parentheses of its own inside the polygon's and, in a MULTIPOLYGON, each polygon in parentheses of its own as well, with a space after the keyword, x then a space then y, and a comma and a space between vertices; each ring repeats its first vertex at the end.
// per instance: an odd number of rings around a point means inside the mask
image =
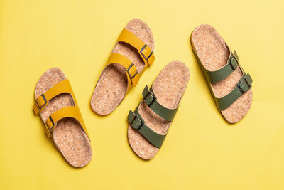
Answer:
MULTIPOLYGON (((243 70, 244 73, 244 70, 243 70)), ((236 87, 231 90, 231 92, 224 97, 216 98, 217 106, 219 110, 225 110, 229 107, 234 101, 236 101, 241 95, 246 93, 251 88, 251 83, 253 80, 251 79, 251 75, 244 73, 239 82, 236 84, 236 87)))

